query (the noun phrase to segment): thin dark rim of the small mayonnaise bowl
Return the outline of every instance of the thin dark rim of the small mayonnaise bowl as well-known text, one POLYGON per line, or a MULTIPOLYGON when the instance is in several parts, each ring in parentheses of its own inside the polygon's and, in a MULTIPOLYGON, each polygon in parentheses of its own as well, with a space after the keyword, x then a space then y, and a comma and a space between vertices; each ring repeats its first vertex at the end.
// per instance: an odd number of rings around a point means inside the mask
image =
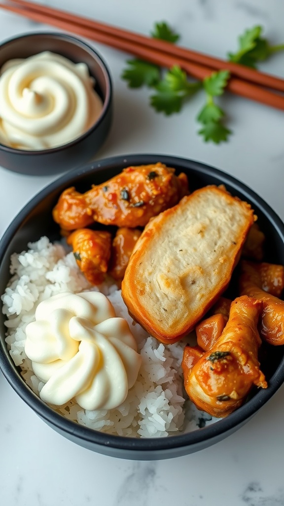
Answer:
MULTIPOLYGON (((70 142, 67 142, 65 144, 61 144, 59 146, 55 146, 54 148, 47 148, 47 149, 19 149, 19 148, 13 148, 11 146, 7 146, 6 144, 2 144, 0 142, 0 149, 2 151, 6 151, 11 154, 21 155, 21 156, 40 156, 40 155, 46 155, 50 153, 56 153, 58 151, 62 151, 65 149, 70 148, 71 146, 75 146, 78 142, 81 142, 86 137, 88 137, 94 130, 99 129, 100 124, 104 121, 105 116, 111 106, 112 101, 112 95, 113 95, 113 84, 112 84, 112 77, 109 70, 109 67, 101 54, 97 51, 97 49, 94 49, 92 46, 87 44, 83 39, 80 39, 79 37, 76 37, 75 35, 71 35, 69 33, 63 33, 63 32, 57 32, 57 31, 38 31, 38 32, 26 32, 22 33, 20 35, 16 35, 14 37, 10 37, 8 39, 5 39, 0 44, 0 51, 6 46, 11 44, 13 41, 17 41, 20 39, 26 39, 26 38, 32 38, 35 36, 49 36, 49 37, 55 37, 55 38, 61 38, 65 39, 71 44, 75 44, 76 46, 80 46, 85 51, 89 52, 94 59, 99 63, 100 68, 104 74, 104 78, 106 81, 106 97, 104 99, 103 103, 103 109, 97 118, 97 120, 86 130, 83 134, 81 134, 79 137, 76 137, 70 142)), ((48 50, 46 50, 48 51, 48 50)), ((37 53, 35 53, 37 54, 37 53)), ((60 53, 59 53, 60 54, 60 53)))

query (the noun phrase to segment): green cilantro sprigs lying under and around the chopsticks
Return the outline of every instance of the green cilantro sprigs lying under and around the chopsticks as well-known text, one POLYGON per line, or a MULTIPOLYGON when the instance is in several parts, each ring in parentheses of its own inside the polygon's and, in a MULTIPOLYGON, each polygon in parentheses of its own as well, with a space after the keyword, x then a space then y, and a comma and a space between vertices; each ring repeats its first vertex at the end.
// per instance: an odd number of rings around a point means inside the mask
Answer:
MULTIPOLYGON (((167 40, 175 44, 179 35, 165 22, 156 23, 151 33, 154 38, 167 40)), ((235 53, 228 53, 229 61, 256 68, 257 63, 266 60, 277 51, 284 50, 284 44, 270 45, 262 36, 262 27, 254 26, 238 38, 239 48, 235 53)), ((197 121, 202 128, 198 134, 205 142, 219 144, 228 140, 231 131, 225 126, 225 112, 216 103, 216 99, 225 92, 230 74, 227 70, 212 72, 210 76, 201 80, 190 80, 186 73, 174 65, 165 70, 158 65, 137 58, 127 60, 127 67, 122 72, 122 78, 129 88, 147 86, 154 92, 150 95, 150 105, 156 112, 169 116, 180 112, 183 105, 197 92, 205 93, 205 105, 197 114, 197 121)))

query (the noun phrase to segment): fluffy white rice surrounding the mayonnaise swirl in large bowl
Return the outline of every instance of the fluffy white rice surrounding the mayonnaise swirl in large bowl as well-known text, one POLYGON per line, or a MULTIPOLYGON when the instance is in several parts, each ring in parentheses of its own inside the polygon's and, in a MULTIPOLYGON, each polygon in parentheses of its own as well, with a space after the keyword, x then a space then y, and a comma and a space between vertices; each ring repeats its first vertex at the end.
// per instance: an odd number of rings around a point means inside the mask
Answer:
POLYGON ((28 243, 28 251, 11 257, 9 286, 2 296, 7 315, 6 343, 15 364, 29 387, 38 395, 43 383, 34 375, 26 357, 25 328, 34 321, 36 306, 60 292, 79 293, 100 290, 113 304, 117 316, 128 321, 143 357, 135 385, 116 409, 87 411, 74 400, 64 406, 52 406, 64 416, 91 429, 128 437, 165 437, 180 431, 197 430, 212 423, 211 416, 185 401, 181 375, 184 343, 164 346, 150 336, 128 315, 121 291, 108 278, 99 287, 91 286, 80 272, 72 252, 47 237, 28 243))

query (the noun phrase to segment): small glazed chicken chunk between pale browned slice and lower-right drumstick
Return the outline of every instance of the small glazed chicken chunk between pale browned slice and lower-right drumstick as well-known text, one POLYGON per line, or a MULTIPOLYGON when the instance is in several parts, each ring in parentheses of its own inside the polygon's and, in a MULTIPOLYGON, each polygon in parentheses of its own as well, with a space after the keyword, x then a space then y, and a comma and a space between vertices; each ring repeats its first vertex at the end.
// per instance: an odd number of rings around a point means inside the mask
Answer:
POLYGON ((219 339, 229 318, 231 302, 230 299, 220 297, 210 311, 211 316, 196 326, 197 344, 202 350, 210 350, 219 339))

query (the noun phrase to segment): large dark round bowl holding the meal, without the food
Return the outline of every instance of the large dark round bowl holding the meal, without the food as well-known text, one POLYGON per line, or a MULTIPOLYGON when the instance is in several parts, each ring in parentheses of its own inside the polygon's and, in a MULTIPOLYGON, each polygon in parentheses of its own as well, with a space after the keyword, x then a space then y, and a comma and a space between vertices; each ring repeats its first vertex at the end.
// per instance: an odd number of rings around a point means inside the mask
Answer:
MULTIPOLYGON (((51 210, 60 193, 69 186, 86 191, 91 184, 99 184, 121 172, 129 165, 161 161, 185 172, 191 190, 207 184, 224 184, 233 195, 251 203, 258 216, 258 223, 266 235, 269 250, 266 259, 283 263, 284 224, 273 210, 250 188, 233 177, 202 163, 163 155, 130 155, 100 160, 92 165, 77 168, 38 193, 19 213, 0 242, 0 293, 8 283, 10 256, 27 248, 28 241, 47 235, 51 240, 59 238, 58 226, 52 220, 51 210)), ((25 384, 7 351, 5 344, 5 317, 0 315, 0 367, 18 395, 53 429, 69 440, 90 450, 106 455, 156 460, 177 457, 206 448, 244 425, 272 397, 284 381, 284 347, 268 347, 269 360, 262 364, 268 381, 266 390, 255 389, 241 408, 215 424, 203 429, 177 436, 154 439, 123 438, 103 434, 80 426, 64 418, 44 404, 25 384)))

